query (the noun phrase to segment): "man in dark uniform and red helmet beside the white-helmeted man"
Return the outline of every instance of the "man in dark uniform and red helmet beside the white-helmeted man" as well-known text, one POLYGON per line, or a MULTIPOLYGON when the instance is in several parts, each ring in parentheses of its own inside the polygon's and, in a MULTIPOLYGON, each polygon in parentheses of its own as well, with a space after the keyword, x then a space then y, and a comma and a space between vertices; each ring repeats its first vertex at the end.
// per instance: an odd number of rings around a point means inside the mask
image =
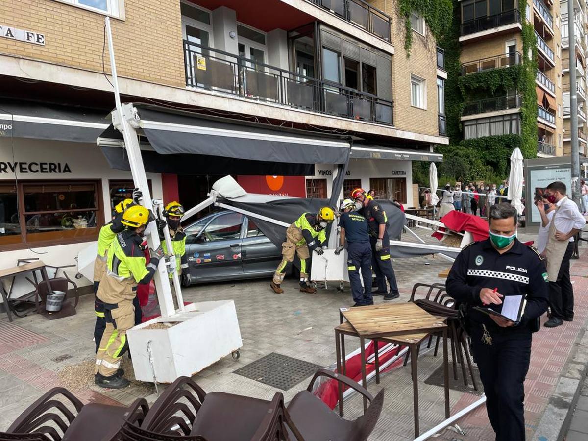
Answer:
POLYGON ((390 261, 390 239, 386 227, 388 219, 382 207, 366 194, 363 188, 356 188, 351 192, 351 198, 356 203, 359 213, 368 219, 370 245, 372 246, 372 265, 376 273, 378 289, 374 295, 384 295, 384 300, 399 298, 400 292, 396 284, 396 275, 390 261), (386 279, 390 291, 386 289, 386 279))

